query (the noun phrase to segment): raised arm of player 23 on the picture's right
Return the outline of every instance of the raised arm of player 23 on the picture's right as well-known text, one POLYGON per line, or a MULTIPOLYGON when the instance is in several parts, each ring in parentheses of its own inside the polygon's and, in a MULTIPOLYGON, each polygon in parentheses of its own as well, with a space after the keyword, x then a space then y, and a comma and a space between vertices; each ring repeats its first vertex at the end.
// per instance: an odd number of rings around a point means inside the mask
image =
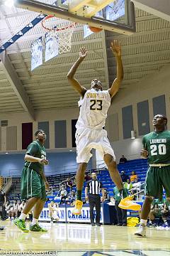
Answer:
POLYGON ((114 40, 111 43, 111 50, 115 55, 116 63, 117 63, 117 78, 113 81, 111 88, 108 89, 111 98, 118 92, 120 87, 120 82, 123 80, 123 63, 122 63, 122 54, 121 47, 118 45, 118 41, 114 40))

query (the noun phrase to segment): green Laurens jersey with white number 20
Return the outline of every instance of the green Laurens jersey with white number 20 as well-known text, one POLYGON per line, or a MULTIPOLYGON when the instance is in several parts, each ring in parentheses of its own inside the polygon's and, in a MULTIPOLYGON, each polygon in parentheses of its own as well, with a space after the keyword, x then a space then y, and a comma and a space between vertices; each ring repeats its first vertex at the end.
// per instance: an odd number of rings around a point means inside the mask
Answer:
POLYGON ((149 152, 149 164, 170 164, 170 131, 150 132, 142 144, 149 152))

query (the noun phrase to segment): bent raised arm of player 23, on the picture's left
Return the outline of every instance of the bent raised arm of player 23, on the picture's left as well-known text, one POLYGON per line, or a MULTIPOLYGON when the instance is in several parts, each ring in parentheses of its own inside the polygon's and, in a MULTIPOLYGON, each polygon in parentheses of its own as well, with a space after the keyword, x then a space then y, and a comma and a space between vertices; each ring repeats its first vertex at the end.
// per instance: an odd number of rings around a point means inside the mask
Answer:
POLYGON ((77 71, 77 68, 79 67, 80 63, 84 60, 86 55, 87 55, 87 50, 84 47, 81 48, 81 50, 79 52, 78 60, 74 63, 74 65, 72 65, 72 68, 70 68, 69 73, 67 74, 67 79, 69 81, 69 84, 72 85, 72 87, 74 87, 74 90, 79 92, 79 94, 82 97, 84 97, 84 94, 86 92, 86 88, 84 88, 83 86, 81 86, 79 84, 77 79, 74 78, 74 75, 75 75, 75 73, 77 71))

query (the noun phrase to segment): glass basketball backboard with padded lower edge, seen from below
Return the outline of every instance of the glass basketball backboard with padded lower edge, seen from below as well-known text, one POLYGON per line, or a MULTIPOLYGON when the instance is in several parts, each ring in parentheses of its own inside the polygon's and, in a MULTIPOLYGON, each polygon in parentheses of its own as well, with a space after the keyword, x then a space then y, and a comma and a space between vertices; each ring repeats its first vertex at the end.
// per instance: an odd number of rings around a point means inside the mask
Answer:
POLYGON ((15 6, 108 31, 135 33, 135 9, 130 0, 16 0, 15 6))

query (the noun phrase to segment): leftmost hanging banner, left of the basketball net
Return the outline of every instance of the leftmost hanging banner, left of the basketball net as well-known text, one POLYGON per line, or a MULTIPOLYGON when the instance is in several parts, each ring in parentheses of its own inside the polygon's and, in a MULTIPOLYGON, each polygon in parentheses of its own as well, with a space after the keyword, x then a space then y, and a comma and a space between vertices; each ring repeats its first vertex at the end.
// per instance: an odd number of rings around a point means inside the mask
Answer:
POLYGON ((42 65, 42 36, 31 43, 31 71, 42 65))

